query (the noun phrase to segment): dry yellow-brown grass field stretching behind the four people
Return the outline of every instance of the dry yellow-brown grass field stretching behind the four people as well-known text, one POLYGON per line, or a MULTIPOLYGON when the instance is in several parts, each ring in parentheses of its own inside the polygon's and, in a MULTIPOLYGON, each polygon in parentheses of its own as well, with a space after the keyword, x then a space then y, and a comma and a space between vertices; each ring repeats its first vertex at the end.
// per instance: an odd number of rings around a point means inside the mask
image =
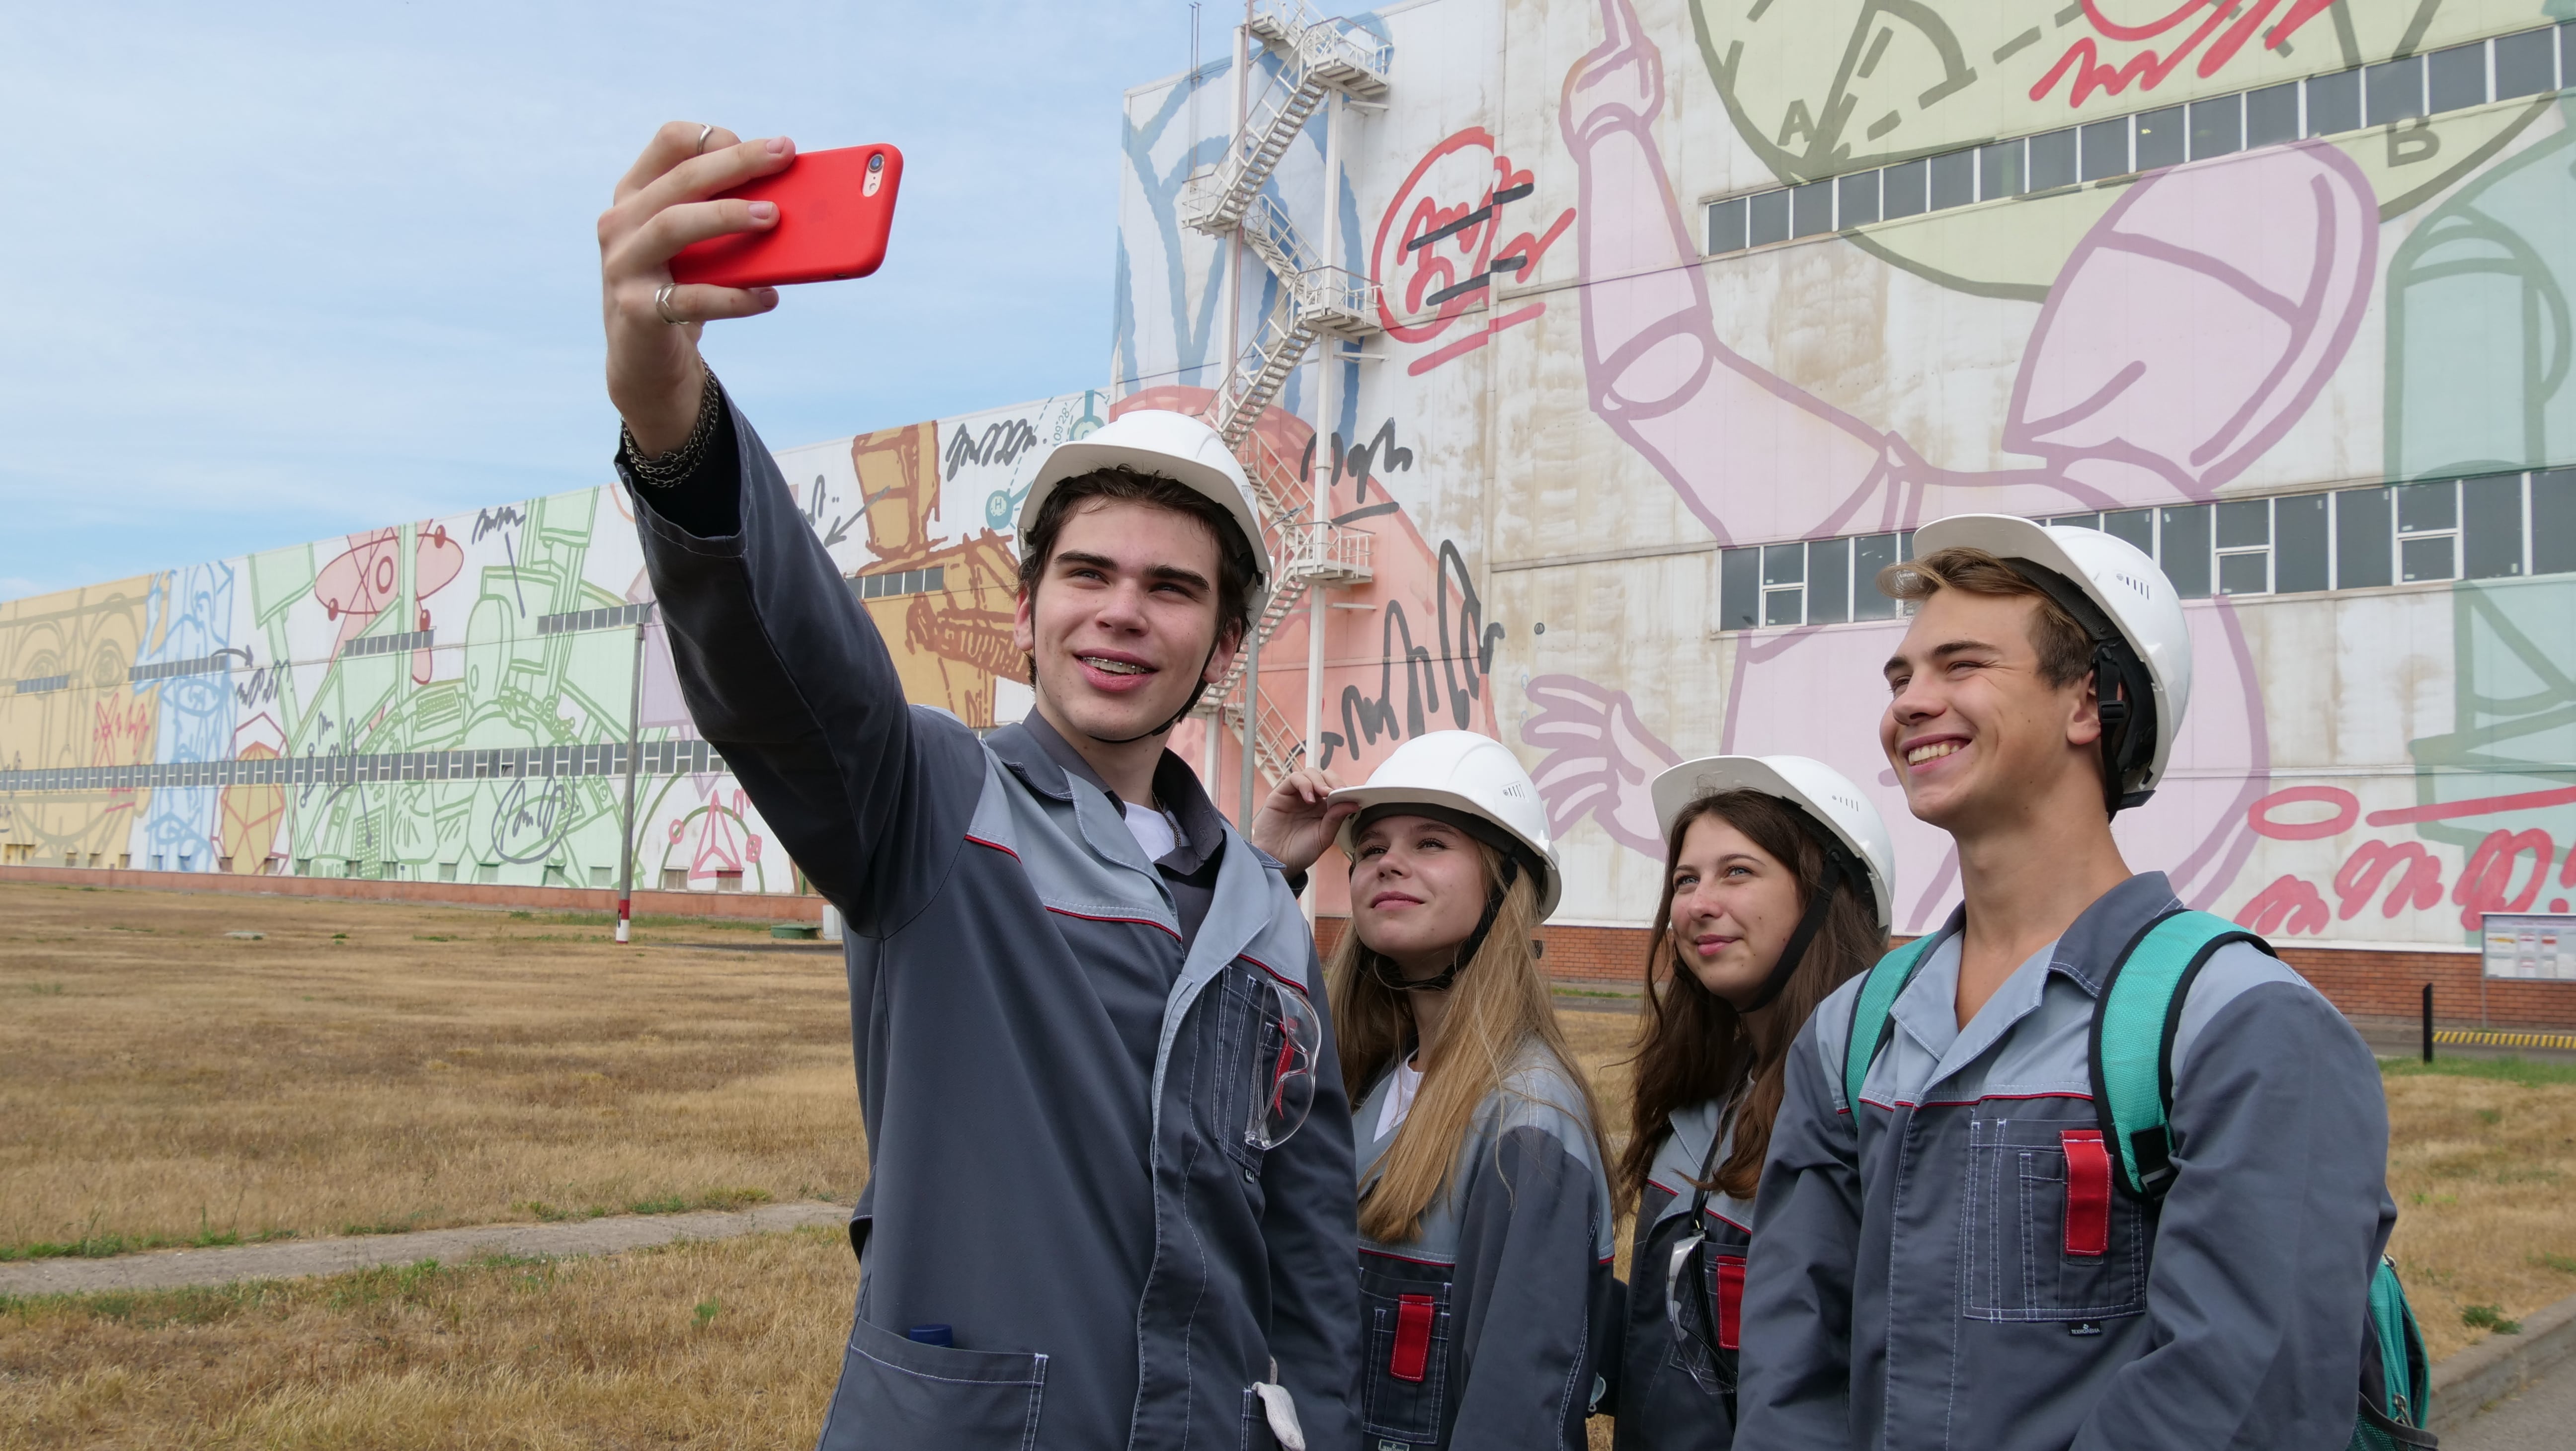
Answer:
MULTIPOLYGON (((863 1178, 840 964, 549 915, 0 887, 0 1253, 546 1219, 863 1178), (265 930, 258 943, 227 930, 265 930), (345 936, 337 936, 345 933, 345 936), (118 1240, 121 1237, 121 1240, 118 1240)), ((1564 1013, 1625 1119, 1625 1013, 1564 1013)), ((2434 1353, 2576 1294, 2576 1067, 2391 1064, 2434 1353)), ((1625 1245, 1623 1245, 1625 1250, 1625 1245)), ((809 1446, 829 1229, 0 1299, 0 1451, 809 1446)), ((1595 1423, 1607 1446, 1607 1425, 1595 1423)))

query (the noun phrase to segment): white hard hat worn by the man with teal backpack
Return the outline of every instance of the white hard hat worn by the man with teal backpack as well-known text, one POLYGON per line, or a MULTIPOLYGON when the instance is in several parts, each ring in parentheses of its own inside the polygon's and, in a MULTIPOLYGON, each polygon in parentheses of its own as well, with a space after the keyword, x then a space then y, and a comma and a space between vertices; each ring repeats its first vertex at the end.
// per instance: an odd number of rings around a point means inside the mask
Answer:
MULTIPOLYGON (((2128 742, 2120 750, 2120 765, 2110 771, 2117 776, 2110 786, 2115 804, 2146 802, 2164 781, 2174 737, 2182 735, 2182 711, 2192 706, 2192 631, 2182 621, 2182 598, 2174 595, 2174 582, 2143 549, 2099 528, 2045 526, 2009 513, 1960 513, 1914 531, 1917 559, 1935 549, 1960 546, 1984 549, 2007 564, 2038 567, 2063 580, 2076 590, 2076 598, 2025 570, 2025 577, 2066 606, 2094 634, 2097 644, 2105 644, 2102 631, 2110 629, 2146 668, 2143 683, 2154 701, 2156 737, 2154 742, 2128 742)), ((2105 683, 2102 698, 2110 701, 2110 696, 2105 683)), ((2105 758, 2110 745, 2112 740, 2105 735, 2105 758)))

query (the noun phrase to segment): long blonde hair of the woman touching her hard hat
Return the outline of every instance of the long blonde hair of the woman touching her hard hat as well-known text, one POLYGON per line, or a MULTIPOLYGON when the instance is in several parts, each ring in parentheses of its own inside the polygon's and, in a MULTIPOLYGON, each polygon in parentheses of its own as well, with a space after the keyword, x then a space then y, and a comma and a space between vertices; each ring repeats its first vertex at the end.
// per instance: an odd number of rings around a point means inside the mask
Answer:
MULTIPOLYGON (((1473 845, 1486 881, 1502 881, 1502 858, 1494 848, 1473 845)), ((1535 918, 1535 887, 1522 871, 1502 894, 1494 930, 1448 990, 1450 1010, 1440 1021, 1435 1054, 1422 1062, 1422 1088, 1360 1198, 1360 1235, 1381 1245, 1404 1245, 1422 1235, 1422 1214, 1448 1188, 1458 1147, 1476 1126, 1476 1108, 1502 1088, 1530 1039, 1556 1057, 1566 1080, 1582 1093, 1592 1152, 1595 1157, 1602 1152, 1600 1103, 1574 1062, 1574 1049, 1566 1046, 1564 1028, 1556 1026, 1548 979, 1530 951, 1535 918)), ((1414 1036, 1412 1000, 1378 982, 1378 961, 1352 923, 1324 972, 1332 1028, 1342 1044, 1342 1082, 1352 1093, 1365 1093, 1394 1067, 1414 1036)))

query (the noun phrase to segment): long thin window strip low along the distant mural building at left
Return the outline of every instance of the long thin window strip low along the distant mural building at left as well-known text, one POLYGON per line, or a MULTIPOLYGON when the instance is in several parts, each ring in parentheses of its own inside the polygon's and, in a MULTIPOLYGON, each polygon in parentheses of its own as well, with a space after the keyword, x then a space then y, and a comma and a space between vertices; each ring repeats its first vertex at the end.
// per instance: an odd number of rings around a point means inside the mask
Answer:
MULTIPOLYGON (((647 740, 644 776, 724 773, 703 740, 647 740)), ((526 776, 623 776, 626 742, 505 750, 404 750, 374 755, 268 755, 255 760, 152 760, 0 771, 0 791, 157 791, 191 786, 353 786, 361 781, 507 781, 526 776)))

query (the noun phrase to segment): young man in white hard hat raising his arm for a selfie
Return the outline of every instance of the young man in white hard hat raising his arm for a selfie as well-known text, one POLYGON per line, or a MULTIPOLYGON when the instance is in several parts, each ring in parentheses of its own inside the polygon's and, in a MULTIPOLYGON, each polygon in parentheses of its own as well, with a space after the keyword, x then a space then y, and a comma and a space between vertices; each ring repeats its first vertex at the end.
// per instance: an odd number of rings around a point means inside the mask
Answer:
POLYGON ((824 1448, 1358 1441, 1350 1108, 1278 863, 1162 747, 1260 608, 1216 433, 1128 412, 1041 464, 987 740, 912 709, 698 358, 775 289, 675 286, 778 222, 786 139, 665 126, 600 216, 618 474, 690 714, 850 923, 871 1180, 824 1448))

